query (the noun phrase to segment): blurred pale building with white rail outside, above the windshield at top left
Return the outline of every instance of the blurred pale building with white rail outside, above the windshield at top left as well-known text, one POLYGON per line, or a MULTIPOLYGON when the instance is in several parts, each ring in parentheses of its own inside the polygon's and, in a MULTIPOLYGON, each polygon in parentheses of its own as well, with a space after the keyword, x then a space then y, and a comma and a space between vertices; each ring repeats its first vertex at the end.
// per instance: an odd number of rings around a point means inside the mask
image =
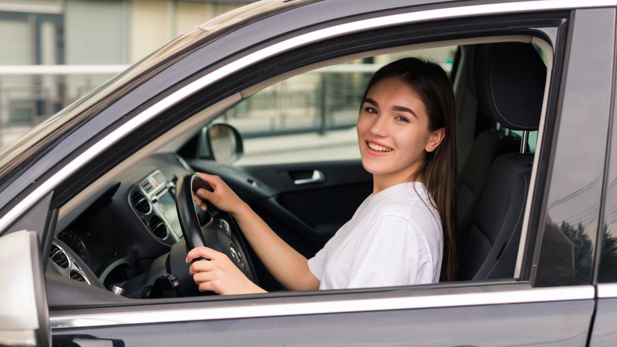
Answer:
POLYGON ((251 0, 0 0, 0 148, 176 36, 251 0))

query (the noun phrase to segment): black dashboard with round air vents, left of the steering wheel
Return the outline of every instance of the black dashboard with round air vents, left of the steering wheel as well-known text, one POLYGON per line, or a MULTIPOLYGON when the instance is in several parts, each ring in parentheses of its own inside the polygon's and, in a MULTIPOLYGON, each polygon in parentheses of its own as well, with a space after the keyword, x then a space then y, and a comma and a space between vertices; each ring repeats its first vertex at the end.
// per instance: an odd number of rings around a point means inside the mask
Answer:
POLYGON ((131 167, 58 220, 48 271, 107 290, 124 286, 125 296, 143 297, 139 288, 152 262, 183 238, 175 184, 192 171, 172 153, 131 167))

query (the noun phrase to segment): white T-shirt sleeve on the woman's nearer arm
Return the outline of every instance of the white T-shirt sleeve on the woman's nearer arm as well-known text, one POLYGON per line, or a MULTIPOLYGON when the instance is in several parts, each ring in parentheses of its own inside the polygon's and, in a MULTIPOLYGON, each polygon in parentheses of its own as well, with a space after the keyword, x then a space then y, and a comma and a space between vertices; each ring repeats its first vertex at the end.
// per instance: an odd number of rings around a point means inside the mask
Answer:
POLYGON ((431 259, 413 220, 379 217, 360 238, 351 260, 348 288, 431 283, 431 259))

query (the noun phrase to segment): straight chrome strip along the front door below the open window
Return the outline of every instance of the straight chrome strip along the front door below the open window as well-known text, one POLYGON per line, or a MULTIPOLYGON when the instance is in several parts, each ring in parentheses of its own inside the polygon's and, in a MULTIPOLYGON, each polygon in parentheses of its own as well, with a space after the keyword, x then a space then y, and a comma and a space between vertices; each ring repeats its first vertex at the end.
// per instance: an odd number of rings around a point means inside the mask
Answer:
MULTIPOLYGON (((526 288, 524 290, 483 291, 431 296, 407 296, 398 298, 349 299, 337 301, 307 301, 297 303, 257 304, 242 301, 210 301, 175 305, 149 305, 96 309, 97 313, 50 312, 52 329, 99 327, 127 324, 153 324, 186 322, 189 320, 239 319, 251 317, 302 316, 307 314, 331 314, 347 312, 389 311, 399 309, 426 309, 437 307, 461 307, 495 304, 537 303, 566 300, 594 299, 592 285, 556 288, 526 288), (195 307, 201 306, 201 307, 195 307)), ((294 298, 291 298, 294 299, 294 298)))

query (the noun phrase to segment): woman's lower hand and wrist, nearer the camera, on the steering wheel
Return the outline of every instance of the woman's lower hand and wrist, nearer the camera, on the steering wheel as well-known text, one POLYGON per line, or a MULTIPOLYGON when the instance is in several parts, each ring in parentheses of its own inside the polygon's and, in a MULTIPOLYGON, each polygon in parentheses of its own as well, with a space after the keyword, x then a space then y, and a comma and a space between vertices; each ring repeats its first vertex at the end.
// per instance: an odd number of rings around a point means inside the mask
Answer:
POLYGON ((220 295, 265 293, 265 290, 242 274, 226 254, 201 246, 189 251, 186 262, 199 257, 210 259, 196 261, 189 268, 189 274, 199 286, 199 291, 213 291, 220 295))

